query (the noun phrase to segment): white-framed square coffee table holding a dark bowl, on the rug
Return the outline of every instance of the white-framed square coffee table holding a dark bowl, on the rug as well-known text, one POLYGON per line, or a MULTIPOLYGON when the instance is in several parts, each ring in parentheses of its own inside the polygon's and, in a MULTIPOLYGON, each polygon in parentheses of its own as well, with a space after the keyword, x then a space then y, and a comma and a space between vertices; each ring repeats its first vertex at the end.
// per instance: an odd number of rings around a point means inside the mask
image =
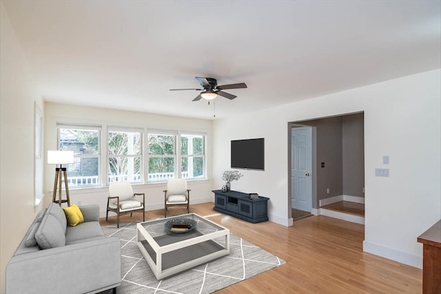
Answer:
POLYGON ((141 222, 136 231, 139 249, 158 280, 229 254, 229 229, 196 213, 141 222), (195 229, 166 229, 166 222, 182 218, 196 222, 195 229))

